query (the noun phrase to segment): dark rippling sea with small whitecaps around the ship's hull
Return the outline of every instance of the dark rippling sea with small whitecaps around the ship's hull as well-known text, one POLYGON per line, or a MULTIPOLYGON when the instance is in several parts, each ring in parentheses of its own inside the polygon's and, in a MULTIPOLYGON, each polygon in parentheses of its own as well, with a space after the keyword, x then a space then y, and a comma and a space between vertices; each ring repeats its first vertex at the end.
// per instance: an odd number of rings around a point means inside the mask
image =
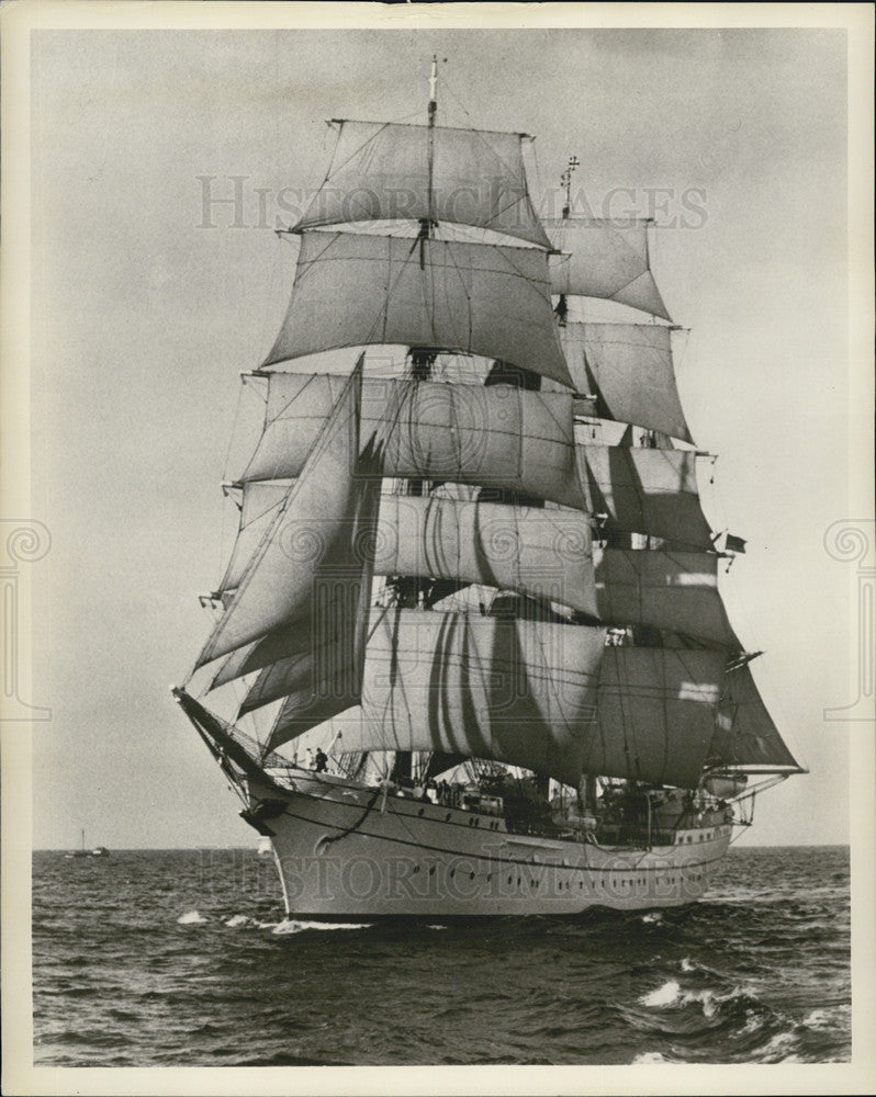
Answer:
POLYGON ((37 1066, 851 1056, 846 848, 734 848, 682 909, 468 926, 284 921, 255 849, 33 863, 37 1066))

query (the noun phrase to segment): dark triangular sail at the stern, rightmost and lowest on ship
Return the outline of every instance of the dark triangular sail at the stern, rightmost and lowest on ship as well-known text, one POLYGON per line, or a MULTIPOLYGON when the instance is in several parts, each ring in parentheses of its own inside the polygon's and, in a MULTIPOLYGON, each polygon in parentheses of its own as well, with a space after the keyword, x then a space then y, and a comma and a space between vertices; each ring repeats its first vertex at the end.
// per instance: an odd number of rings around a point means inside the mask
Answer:
POLYGON ((727 672, 709 754, 723 766, 802 768, 785 746, 748 665, 727 672))

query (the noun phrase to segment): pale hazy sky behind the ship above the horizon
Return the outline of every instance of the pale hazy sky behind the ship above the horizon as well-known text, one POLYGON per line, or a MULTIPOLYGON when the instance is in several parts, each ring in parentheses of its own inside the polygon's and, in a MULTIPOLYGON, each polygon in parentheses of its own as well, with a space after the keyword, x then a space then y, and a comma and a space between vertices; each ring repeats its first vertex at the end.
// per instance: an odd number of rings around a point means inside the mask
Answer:
POLYGON ((690 329, 686 417, 720 455, 705 506, 749 541, 726 601, 810 770, 740 841, 846 841, 852 730, 823 717, 854 700, 857 658, 854 575, 824 547, 861 460, 845 49, 841 30, 36 32, 33 509, 52 550, 33 699, 53 717, 34 725, 34 846, 255 842, 168 691, 233 532, 237 374, 279 328, 294 252, 273 216, 321 181, 324 120, 422 121, 433 53, 439 121, 537 136, 536 199, 574 154, 579 208, 656 217, 652 269, 690 329), (231 177, 243 215, 205 218, 231 177))

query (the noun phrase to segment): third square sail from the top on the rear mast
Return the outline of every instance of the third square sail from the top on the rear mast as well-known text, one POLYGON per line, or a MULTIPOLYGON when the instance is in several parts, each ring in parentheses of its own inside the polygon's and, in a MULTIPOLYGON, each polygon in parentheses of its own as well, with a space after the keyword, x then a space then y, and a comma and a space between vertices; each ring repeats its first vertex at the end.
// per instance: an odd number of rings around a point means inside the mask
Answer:
POLYGON ((625 445, 579 445, 583 509, 605 514, 609 529, 711 546, 699 505, 696 454, 625 445))

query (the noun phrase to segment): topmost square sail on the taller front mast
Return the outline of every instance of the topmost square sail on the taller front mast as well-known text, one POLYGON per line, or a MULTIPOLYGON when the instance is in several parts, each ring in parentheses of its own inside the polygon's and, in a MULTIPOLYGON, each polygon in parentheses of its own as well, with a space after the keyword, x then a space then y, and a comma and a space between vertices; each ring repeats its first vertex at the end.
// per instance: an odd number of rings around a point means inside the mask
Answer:
POLYGON ((296 230, 431 219, 550 247, 526 188, 523 134, 381 122, 337 125, 325 182, 296 230))

